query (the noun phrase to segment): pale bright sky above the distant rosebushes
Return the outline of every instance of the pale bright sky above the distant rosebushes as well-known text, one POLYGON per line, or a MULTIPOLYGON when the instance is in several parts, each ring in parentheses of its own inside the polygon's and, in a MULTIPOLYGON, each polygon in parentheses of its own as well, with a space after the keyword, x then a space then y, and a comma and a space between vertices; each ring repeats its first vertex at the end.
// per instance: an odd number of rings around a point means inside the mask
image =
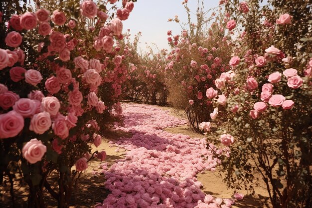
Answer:
MULTIPOLYGON (((149 45, 155 43, 159 49, 169 49, 167 43, 167 31, 172 30, 172 34, 180 34, 181 27, 176 22, 167 22, 168 18, 178 15, 181 22, 187 22, 187 15, 182 5, 183 0, 138 0, 127 20, 123 21, 124 31, 130 29, 132 39, 134 34, 142 32, 139 47, 143 51, 149 51, 145 42, 149 45)), ((216 7, 219 0, 204 0, 204 10, 216 7)), ((197 0, 188 0, 188 7, 192 12, 196 12, 197 0)), ((194 17, 194 15, 193 15, 194 17)))

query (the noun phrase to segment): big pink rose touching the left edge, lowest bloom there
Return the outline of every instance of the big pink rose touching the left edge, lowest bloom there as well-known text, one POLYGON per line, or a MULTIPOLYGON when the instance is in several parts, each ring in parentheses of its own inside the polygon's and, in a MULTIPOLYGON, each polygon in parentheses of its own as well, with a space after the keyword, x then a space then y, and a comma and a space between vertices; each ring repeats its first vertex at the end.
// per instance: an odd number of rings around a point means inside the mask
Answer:
POLYGON ((0 114, 0 139, 15 137, 24 128, 24 118, 15 111, 0 114))

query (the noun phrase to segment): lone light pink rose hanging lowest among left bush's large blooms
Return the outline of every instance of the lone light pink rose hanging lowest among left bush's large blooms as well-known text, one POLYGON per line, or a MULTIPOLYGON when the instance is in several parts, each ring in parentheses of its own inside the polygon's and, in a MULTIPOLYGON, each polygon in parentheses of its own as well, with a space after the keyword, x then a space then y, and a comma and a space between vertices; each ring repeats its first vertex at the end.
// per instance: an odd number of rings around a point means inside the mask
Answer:
POLYGON ((35 164, 36 162, 41 161, 45 153, 46 146, 37 139, 31 139, 22 149, 23 157, 30 164, 35 164))

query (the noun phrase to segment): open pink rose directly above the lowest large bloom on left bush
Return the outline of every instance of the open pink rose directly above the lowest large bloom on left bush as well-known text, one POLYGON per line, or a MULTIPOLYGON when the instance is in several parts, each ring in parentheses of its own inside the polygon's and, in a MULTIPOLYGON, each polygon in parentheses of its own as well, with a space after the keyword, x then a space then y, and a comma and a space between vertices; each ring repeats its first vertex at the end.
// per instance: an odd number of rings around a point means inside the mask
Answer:
POLYGON ((51 127, 51 116, 48 112, 35 114, 30 120, 29 130, 36 134, 43 134, 51 127))

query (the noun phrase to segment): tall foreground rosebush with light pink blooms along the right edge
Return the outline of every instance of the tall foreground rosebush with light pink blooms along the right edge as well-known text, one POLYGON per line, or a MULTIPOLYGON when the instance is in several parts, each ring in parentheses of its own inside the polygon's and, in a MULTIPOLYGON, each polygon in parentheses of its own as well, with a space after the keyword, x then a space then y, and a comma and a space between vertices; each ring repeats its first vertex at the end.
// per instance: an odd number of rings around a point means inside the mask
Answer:
POLYGON ((213 102, 219 114, 211 118, 226 122, 211 141, 230 148, 221 157, 230 187, 252 190, 259 172, 274 208, 311 207, 311 5, 242 3, 220 0, 232 18, 228 29, 235 21, 243 31, 230 60, 235 76, 215 81, 224 97, 213 102))

